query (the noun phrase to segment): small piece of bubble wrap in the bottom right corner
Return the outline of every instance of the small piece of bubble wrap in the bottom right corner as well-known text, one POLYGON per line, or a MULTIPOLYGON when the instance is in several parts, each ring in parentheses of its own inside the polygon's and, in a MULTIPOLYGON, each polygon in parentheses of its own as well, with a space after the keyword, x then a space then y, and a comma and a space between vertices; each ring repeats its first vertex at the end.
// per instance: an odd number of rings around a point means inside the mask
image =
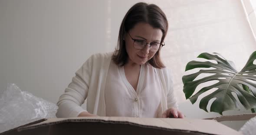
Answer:
POLYGON ((249 119, 239 130, 243 135, 256 135, 256 117, 249 119))

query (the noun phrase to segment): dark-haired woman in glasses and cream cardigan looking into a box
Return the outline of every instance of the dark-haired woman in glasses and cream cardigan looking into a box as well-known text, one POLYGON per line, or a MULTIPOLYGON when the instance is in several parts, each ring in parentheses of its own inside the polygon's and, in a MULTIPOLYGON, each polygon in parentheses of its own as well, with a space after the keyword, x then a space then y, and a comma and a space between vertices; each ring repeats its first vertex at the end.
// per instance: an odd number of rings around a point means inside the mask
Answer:
POLYGON ((184 118, 160 59, 167 29, 158 6, 132 6, 121 23, 115 52, 92 55, 82 65, 60 96, 56 116, 184 118), (87 110, 81 107, 85 99, 87 110))

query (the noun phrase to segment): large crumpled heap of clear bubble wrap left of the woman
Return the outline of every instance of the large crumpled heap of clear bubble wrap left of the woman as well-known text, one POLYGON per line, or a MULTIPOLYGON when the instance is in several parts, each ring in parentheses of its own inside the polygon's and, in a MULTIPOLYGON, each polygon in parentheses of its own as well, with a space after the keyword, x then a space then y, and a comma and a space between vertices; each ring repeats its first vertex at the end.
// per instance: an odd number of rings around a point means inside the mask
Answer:
POLYGON ((0 91, 0 133, 43 119, 55 118, 58 106, 8 84, 0 91))

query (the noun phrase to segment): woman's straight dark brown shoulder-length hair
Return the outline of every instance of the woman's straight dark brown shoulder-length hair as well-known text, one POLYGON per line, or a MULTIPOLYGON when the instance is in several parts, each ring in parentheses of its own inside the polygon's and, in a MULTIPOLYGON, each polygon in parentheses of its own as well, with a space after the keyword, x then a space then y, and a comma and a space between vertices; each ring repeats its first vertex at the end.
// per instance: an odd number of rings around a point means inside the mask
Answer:
MULTIPOLYGON (((125 40, 123 40, 125 39, 125 33, 138 23, 148 23, 153 28, 161 29, 163 32, 161 44, 164 41, 168 30, 168 22, 164 12, 155 4, 136 3, 126 13, 119 29, 118 44, 112 55, 112 60, 118 66, 124 66, 128 61, 125 40)), ((165 67, 160 59, 160 49, 155 53, 153 58, 147 61, 147 63, 156 68, 165 67)))

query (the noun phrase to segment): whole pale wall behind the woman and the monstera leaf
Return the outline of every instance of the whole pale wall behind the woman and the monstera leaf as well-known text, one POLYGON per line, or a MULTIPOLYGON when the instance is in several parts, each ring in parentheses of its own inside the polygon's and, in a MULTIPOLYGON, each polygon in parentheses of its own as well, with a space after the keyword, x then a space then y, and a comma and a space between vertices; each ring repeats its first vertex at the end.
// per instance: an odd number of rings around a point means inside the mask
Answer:
MULTIPOLYGON (((0 90, 15 83, 56 103, 89 55, 114 50, 122 18, 138 1, 0 0, 0 90)), ((167 15, 162 58, 173 71, 181 110, 190 117, 217 116, 185 101, 181 77, 201 52, 219 52, 243 67, 256 46, 240 0, 143 1, 167 15)))

